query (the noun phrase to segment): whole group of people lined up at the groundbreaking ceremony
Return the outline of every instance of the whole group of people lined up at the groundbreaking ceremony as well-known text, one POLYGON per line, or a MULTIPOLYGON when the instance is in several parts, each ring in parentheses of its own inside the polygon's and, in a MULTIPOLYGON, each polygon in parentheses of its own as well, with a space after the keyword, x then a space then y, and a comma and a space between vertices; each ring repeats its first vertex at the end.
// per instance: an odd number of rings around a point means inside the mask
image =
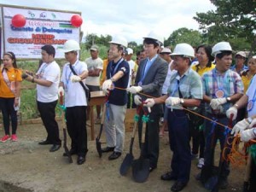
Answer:
MULTIPOLYGON (((145 56, 135 64, 130 57, 123 57, 125 53, 133 53, 132 49, 126 49, 126 39, 116 36, 109 42, 107 60, 102 61, 98 57, 99 48, 92 45, 91 57, 84 62, 79 61, 79 43, 67 40, 62 49, 67 64, 61 73, 55 62, 55 48, 44 45, 41 48, 43 64, 38 72, 35 75, 28 72, 22 74, 23 79, 37 84, 38 111, 48 133, 39 144, 51 144, 50 152, 61 148, 55 107, 58 97, 64 96, 67 131, 71 137, 70 154, 77 154, 77 163, 82 165, 88 151, 86 89, 88 86, 91 91, 100 90, 102 85, 102 91, 107 96, 107 102, 104 103, 107 113, 102 114, 106 116, 104 130, 107 147, 102 148, 102 152, 112 152, 108 160, 118 159, 124 150, 125 112, 127 106, 132 105, 127 104, 128 101, 133 98, 135 106, 143 108, 137 110, 138 137, 141 144, 145 135, 144 147, 141 149, 143 158, 149 160, 149 172, 158 165, 162 117, 163 125, 169 132, 172 160, 171 171, 160 178, 175 180, 172 191, 182 190, 189 183, 191 159, 199 153, 198 167, 201 173, 197 178, 207 183, 212 176, 210 173, 214 166, 213 154, 217 141, 221 152, 226 145, 229 130, 222 125, 228 125, 232 118, 235 126, 231 134, 236 136, 240 133, 243 142, 256 137, 256 128, 253 128, 256 123, 256 79, 253 76, 256 73, 256 57, 249 58, 246 67, 246 55, 240 51, 235 56, 236 65, 231 67, 233 50, 228 42, 219 42, 213 47, 203 44, 196 49, 189 44, 177 44, 173 52, 168 48, 161 49, 162 46, 163 38, 156 32, 149 32, 143 38, 142 53, 145 56), (193 62, 195 57, 196 62, 193 62), (192 62, 195 63, 193 66, 192 62), (201 113, 212 121, 198 119, 193 112, 201 113), (148 115, 147 121, 143 119, 145 114, 148 115), (145 134, 143 123, 146 123, 145 134), (191 137, 192 151, 189 145, 191 137)), ((0 106, 5 131, 1 142, 9 139, 17 141, 15 131, 22 79, 12 52, 3 54, 1 72, 0 106), (9 117, 12 135, 9 133, 9 117)), ((100 119, 101 106, 96 111, 97 119, 100 119)), ((224 161, 219 173, 221 189, 227 188, 229 174, 229 162, 224 161)))

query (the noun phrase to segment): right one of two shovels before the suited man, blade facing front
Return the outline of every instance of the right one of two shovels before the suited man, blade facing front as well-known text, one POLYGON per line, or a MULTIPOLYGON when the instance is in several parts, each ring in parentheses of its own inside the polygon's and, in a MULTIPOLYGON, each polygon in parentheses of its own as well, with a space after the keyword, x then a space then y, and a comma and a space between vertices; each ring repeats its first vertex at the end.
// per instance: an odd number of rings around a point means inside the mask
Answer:
POLYGON ((146 122, 143 121, 143 137, 141 144, 141 154, 139 159, 134 160, 132 163, 132 176, 137 183, 143 183, 147 180, 149 175, 149 160, 143 157, 143 148, 145 143, 145 130, 146 122))

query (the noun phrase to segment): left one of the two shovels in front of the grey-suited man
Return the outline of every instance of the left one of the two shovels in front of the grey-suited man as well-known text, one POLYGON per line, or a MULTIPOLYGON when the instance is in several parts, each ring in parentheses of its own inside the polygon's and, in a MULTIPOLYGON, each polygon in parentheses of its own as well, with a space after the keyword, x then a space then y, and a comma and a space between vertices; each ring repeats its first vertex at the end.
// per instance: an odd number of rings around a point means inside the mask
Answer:
POLYGON ((137 120, 134 121, 134 126, 133 126, 133 130, 132 130, 130 152, 129 152, 129 154, 126 154, 125 159, 123 160, 123 162, 120 166, 119 172, 122 176, 124 176, 128 172, 128 169, 130 168, 132 160, 134 158, 133 154, 132 154, 132 146, 134 143, 134 137, 135 137, 136 131, 137 131, 137 120))

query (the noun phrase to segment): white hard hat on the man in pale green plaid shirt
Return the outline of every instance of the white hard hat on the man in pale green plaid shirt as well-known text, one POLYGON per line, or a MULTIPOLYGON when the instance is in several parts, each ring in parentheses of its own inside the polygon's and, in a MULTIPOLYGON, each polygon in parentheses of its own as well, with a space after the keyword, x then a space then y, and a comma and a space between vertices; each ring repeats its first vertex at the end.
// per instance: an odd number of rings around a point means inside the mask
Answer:
POLYGON ((183 55, 183 57, 194 57, 195 56, 195 50, 193 49, 193 47, 190 44, 177 44, 172 52, 172 54, 170 54, 171 56, 174 55, 183 55))

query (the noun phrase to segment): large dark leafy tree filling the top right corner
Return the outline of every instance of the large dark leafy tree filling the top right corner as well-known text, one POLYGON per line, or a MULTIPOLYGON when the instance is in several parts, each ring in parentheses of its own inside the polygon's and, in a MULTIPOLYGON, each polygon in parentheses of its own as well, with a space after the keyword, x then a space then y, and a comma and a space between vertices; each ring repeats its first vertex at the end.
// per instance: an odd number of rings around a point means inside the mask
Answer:
POLYGON ((229 41, 233 49, 255 50, 256 34, 253 34, 253 29, 256 27, 255 1, 211 0, 211 2, 216 6, 216 11, 196 13, 194 17, 209 43, 229 41))

